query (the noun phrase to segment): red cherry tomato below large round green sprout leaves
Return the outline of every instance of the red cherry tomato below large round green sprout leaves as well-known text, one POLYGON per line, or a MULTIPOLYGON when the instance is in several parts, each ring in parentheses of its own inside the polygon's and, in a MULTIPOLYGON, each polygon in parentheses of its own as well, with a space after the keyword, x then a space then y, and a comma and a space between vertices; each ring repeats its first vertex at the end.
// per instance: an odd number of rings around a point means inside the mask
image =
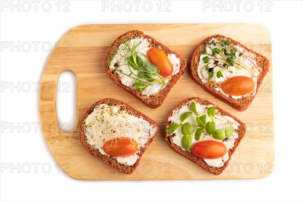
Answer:
POLYGON ((192 153, 203 159, 218 159, 226 154, 227 148, 222 142, 206 140, 194 143, 192 153))

